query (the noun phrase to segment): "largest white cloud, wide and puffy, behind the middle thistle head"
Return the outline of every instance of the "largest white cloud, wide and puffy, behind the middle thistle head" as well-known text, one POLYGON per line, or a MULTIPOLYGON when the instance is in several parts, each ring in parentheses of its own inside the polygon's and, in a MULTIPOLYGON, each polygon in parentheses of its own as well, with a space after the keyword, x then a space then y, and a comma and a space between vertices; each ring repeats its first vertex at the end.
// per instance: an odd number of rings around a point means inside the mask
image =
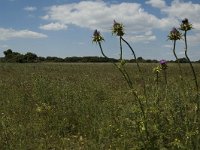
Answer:
POLYGON ((160 20, 145 12, 138 3, 107 4, 103 1, 82 1, 52 6, 42 18, 65 25, 73 24, 91 30, 109 32, 113 20, 116 20, 125 25, 126 31, 136 31, 137 38, 141 40, 153 40, 155 36, 152 32, 151 36, 146 34, 140 36, 140 33, 149 32, 153 28, 165 27, 165 20, 160 20))

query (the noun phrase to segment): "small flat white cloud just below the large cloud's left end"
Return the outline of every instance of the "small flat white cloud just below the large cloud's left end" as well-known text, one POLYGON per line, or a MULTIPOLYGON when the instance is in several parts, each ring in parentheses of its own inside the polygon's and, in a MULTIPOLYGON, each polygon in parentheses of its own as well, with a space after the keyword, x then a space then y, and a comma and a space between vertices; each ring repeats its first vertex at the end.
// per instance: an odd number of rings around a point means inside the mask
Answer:
POLYGON ((50 24, 42 25, 39 28, 43 29, 43 30, 58 31, 58 30, 66 30, 67 29, 67 25, 60 24, 60 23, 50 23, 50 24))

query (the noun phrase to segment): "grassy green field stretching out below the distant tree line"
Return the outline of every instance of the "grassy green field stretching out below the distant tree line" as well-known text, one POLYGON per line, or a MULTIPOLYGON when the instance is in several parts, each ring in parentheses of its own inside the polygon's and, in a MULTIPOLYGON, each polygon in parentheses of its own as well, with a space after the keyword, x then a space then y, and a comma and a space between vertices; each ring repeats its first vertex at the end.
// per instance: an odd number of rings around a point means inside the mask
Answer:
MULTIPOLYGON (((181 80, 169 64, 167 85, 162 72, 156 83, 157 64, 140 66, 146 95, 136 64, 125 66, 138 101, 113 64, 0 64, 0 149, 198 148, 189 65, 181 80)), ((194 68, 199 83, 200 64, 194 68)))

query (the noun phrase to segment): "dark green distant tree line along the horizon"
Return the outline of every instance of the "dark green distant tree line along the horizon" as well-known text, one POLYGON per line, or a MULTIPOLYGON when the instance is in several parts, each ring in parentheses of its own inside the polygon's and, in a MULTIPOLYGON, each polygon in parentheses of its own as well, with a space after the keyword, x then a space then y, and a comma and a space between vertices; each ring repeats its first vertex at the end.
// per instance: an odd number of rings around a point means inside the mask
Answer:
MULTIPOLYGON (((117 59, 114 58, 104 58, 104 57, 97 57, 97 56, 84 56, 84 57, 66 57, 66 58, 60 58, 60 57, 40 57, 37 56, 34 53, 27 52, 26 54, 20 54, 18 52, 14 52, 11 49, 8 49, 3 52, 4 57, 0 58, 1 62, 10 62, 10 63, 37 63, 37 62, 118 62, 117 59)), ((138 62, 141 63, 157 63, 158 60, 151 60, 151 59, 143 59, 142 57, 137 58, 138 62)), ((134 59, 126 60, 126 62, 134 63, 134 59)), ((170 60, 169 62, 175 62, 173 60, 170 60)), ((180 58, 180 63, 187 63, 186 58, 180 58)), ((200 60, 196 61, 197 63, 200 63, 200 60)))

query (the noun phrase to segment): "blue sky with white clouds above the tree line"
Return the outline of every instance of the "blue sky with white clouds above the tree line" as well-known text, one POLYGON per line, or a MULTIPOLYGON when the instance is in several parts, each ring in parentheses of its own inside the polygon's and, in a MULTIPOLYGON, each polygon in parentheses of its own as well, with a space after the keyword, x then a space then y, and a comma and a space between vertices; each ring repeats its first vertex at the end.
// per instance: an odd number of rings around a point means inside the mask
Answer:
MULTIPOLYGON (((119 39, 111 34, 113 20, 125 26, 124 38, 138 57, 174 59, 167 35, 188 18, 194 29, 188 32, 188 52, 200 59, 199 0, 0 0, 0 56, 12 49, 38 56, 101 56, 92 43, 95 29, 105 38, 110 57, 119 57, 119 39)), ((124 46, 124 57, 132 55, 124 46)), ((183 40, 177 54, 184 56, 183 40)))

